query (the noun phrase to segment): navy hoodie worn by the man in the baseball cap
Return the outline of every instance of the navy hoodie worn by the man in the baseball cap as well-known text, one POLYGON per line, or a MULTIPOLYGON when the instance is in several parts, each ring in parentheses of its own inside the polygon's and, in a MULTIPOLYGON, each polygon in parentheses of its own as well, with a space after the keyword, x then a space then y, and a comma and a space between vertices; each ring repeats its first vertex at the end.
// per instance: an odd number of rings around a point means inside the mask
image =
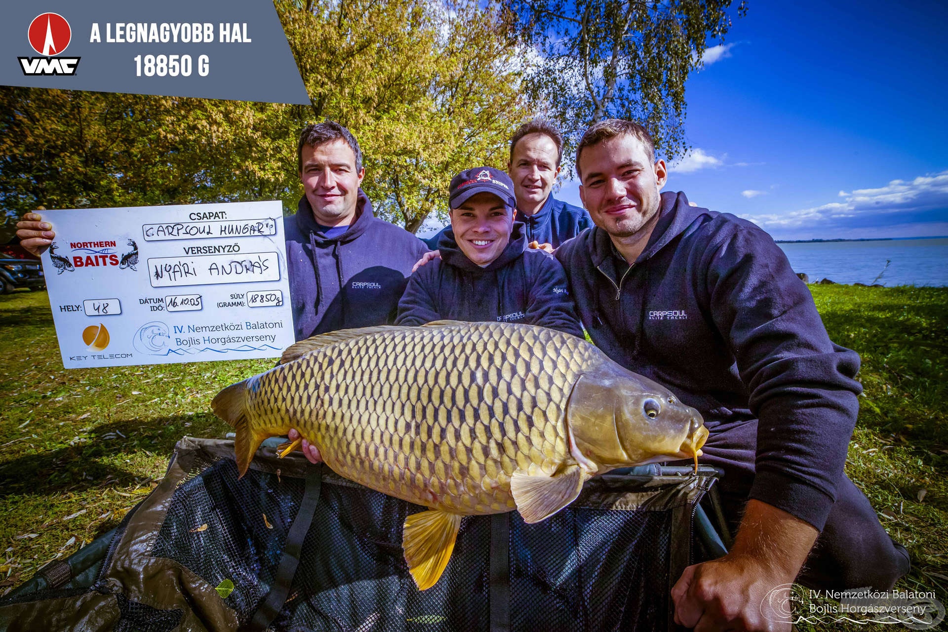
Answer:
POLYGON ((510 243, 485 267, 467 259, 448 229, 438 242, 441 259, 411 275, 398 301, 397 325, 432 320, 499 320, 549 327, 582 337, 566 273, 556 259, 526 247, 523 225, 515 222, 510 243))

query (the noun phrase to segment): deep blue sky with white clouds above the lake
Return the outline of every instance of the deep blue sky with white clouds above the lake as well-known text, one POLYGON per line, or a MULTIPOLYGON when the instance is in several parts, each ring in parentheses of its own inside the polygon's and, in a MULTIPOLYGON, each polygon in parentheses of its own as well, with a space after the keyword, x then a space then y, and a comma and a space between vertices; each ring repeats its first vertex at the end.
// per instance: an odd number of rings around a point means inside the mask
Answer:
POLYGON ((665 190, 775 239, 948 235, 946 27, 941 0, 750 0, 688 79, 665 190))

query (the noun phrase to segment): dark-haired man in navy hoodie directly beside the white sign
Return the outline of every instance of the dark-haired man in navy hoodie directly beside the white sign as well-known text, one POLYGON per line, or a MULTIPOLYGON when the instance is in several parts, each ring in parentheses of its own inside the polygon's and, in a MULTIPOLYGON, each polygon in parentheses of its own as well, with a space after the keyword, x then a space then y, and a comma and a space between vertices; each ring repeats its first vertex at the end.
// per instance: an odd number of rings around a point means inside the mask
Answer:
POLYGON ((297 158, 305 194, 283 222, 296 339, 391 323, 411 266, 428 248, 373 215, 349 130, 329 120, 309 125, 297 158))

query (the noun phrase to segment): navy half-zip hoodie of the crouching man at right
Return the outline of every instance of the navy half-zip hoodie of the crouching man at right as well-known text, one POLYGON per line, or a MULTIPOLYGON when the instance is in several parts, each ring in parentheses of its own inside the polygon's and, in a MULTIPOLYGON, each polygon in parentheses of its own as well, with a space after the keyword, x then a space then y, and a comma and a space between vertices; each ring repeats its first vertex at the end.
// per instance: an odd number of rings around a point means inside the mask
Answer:
POLYGON ((598 227, 556 258, 596 346, 698 408, 709 446, 757 419, 750 497, 822 530, 856 422, 859 356, 830 341, 770 235, 666 192, 631 266, 598 227))

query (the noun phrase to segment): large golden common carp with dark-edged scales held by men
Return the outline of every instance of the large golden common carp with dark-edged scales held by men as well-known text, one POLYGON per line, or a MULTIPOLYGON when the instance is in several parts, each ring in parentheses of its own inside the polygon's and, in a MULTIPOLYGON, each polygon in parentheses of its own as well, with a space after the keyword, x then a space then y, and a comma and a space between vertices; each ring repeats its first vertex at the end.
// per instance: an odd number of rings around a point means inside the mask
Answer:
POLYGON ((463 515, 538 522, 616 467, 696 459, 697 410, 590 343, 529 325, 438 321, 322 334, 222 390, 241 475, 297 428, 335 472, 427 506, 402 539, 419 588, 447 566, 463 515))

